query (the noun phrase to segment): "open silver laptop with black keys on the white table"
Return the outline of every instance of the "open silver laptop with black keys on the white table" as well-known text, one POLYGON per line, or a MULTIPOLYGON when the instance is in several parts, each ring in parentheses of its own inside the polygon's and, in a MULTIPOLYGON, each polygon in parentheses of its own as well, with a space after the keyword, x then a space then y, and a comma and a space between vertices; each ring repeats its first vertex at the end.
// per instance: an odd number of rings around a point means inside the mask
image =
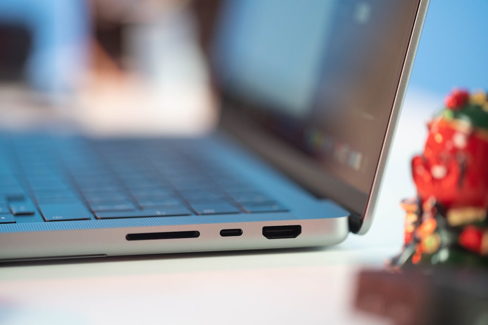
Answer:
POLYGON ((427 1, 222 2, 204 136, 2 132, 0 260, 335 245, 371 226, 427 1))

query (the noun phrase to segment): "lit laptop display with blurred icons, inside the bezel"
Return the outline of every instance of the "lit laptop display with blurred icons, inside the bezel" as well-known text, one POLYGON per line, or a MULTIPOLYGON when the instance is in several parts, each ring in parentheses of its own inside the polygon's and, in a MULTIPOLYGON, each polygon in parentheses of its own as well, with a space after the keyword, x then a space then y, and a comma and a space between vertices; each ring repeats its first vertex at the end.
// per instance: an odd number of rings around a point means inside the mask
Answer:
POLYGON ((368 193, 417 6, 226 2, 214 47, 220 87, 264 129, 368 193))

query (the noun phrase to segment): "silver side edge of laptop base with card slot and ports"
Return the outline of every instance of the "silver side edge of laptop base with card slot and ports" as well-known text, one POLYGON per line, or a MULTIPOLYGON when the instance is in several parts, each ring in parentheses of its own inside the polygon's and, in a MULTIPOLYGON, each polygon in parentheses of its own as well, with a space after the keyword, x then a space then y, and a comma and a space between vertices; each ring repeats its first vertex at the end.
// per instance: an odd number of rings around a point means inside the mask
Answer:
POLYGON ((0 261, 330 246, 347 217, 3 233, 0 261))

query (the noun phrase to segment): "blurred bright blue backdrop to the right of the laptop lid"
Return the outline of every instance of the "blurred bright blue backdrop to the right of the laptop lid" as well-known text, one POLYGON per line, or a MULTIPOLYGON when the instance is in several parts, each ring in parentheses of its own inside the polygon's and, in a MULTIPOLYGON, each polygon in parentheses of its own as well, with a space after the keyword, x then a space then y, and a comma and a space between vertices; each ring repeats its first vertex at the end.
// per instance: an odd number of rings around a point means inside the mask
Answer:
POLYGON ((487 0, 431 0, 409 86, 488 89, 487 18, 487 0))

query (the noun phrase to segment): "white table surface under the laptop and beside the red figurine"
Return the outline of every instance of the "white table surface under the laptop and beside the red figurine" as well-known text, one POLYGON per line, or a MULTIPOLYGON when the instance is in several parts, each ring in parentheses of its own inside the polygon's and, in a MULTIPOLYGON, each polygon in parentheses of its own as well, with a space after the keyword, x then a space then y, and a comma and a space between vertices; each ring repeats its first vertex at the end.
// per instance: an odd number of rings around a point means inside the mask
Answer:
POLYGON ((388 324, 352 308, 360 268, 402 245, 409 159, 442 105, 410 91, 375 221, 335 247, 169 254, 0 266, 0 324, 388 324))

